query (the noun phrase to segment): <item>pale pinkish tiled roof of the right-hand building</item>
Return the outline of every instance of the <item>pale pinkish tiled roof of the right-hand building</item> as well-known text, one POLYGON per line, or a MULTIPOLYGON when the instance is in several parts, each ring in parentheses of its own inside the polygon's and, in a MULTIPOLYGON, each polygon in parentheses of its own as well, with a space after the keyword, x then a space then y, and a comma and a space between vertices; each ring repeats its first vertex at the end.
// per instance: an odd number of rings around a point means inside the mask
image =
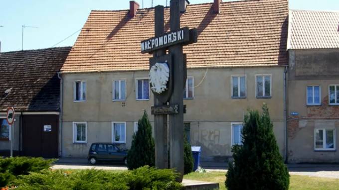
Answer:
POLYGON ((339 12, 291 10, 288 49, 339 48, 339 12))

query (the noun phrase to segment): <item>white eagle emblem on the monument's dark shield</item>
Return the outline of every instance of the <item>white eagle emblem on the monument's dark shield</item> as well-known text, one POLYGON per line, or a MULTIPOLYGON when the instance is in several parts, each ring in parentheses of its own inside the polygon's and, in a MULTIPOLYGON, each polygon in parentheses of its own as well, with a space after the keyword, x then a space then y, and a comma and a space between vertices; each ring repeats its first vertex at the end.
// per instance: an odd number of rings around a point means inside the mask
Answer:
POLYGON ((167 90, 169 81, 169 66, 166 63, 156 63, 150 70, 151 90, 161 94, 167 90))

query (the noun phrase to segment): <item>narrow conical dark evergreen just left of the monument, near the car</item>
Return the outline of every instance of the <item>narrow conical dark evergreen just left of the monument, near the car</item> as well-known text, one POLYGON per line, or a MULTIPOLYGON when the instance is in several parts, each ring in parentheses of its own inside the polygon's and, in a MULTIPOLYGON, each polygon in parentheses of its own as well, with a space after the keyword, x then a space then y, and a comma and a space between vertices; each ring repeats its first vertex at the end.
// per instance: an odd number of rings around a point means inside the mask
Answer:
POLYGON ((152 126, 146 111, 138 121, 138 132, 133 135, 132 146, 127 155, 127 167, 129 170, 142 166, 155 164, 155 145, 152 137, 152 126))

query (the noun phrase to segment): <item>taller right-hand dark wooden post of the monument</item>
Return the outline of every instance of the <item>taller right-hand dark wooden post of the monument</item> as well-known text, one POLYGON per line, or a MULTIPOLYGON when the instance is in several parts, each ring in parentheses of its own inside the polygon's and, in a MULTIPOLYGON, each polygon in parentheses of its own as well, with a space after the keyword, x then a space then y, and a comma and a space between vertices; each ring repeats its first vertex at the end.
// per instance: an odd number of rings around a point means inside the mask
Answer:
MULTIPOLYGON (((170 30, 180 28, 180 2, 170 0, 170 30)), ((169 54, 173 60, 173 94, 169 102, 178 105, 178 114, 169 115, 169 164, 180 173, 177 181, 182 181, 183 176, 183 54, 182 44, 169 47, 169 54)))

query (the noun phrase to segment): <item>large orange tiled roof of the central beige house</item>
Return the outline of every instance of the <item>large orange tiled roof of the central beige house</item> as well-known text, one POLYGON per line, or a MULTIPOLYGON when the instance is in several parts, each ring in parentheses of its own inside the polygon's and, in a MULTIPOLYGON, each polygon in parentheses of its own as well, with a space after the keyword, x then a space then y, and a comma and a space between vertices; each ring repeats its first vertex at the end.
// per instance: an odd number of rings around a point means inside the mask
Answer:
MULTIPOLYGON (((183 49, 188 68, 287 64, 287 0, 222 2, 220 14, 212 4, 188 5, 180 17, 181 27, 198 31, 198 42, 183 49)), ((93 10, 62 72, 148 70, 152 55, 141 54, 140 42, 153 36, 154 8, 138 9, 133 18, 128 10, 93 10)))

